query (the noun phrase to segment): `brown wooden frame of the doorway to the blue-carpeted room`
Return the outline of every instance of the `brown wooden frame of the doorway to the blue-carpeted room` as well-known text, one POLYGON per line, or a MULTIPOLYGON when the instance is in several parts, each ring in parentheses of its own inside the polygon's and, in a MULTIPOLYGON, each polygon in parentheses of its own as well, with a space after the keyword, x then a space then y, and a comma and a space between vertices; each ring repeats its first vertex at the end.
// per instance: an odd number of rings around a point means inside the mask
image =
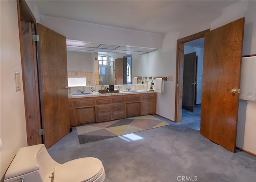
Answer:
POLYGON ((184 44, 192 40, 204 37, 206 32, 210 29, 203 30, 196 34, 181 38, 177 40, 177 53, 176 53, 176 89, 175 89, 175 114, 174 122, 179 123, 182 121, 182 93, 183 93, 183 66, 184 66, 184 44))

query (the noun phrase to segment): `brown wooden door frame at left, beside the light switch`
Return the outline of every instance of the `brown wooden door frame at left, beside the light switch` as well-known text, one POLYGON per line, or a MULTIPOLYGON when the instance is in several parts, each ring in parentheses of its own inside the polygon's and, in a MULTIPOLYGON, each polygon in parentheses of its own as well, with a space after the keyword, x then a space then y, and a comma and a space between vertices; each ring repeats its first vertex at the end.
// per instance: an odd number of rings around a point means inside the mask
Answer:
POLYGON ((32 33, 36 34, 36 18, 29 9, 26 1, 17 0, 18 11, 18 28, 20 37, 20 57, 22 65, 22 83, 24 91, 24 105, 26 116, 26 134, 28 146, 43 143, 42 135, 39 135, 39 130, 42 128, 42 120, 40 113, 40 98, 39 98, 39 85, 38 85, 38 70, 36 59, 36 43, 32 41, 33 58, 24 59, 22 49, 22 32, 21 21, 30 22, 32 33), (34 65, 33 68, 29 65, 34 65), (28 70, 26 73, 24 69, 28 70), (32 83, 26 83, 26 77, 30 77, 32 83), (32 101, 30 100, 31 98, 32 101))

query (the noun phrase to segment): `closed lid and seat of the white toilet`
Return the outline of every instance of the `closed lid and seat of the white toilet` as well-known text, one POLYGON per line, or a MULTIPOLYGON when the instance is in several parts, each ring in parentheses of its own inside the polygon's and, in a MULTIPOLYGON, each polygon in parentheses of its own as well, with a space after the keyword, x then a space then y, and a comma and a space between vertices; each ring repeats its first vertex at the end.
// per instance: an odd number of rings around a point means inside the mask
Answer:
POLYGON ((54 168, 54 182, 93 181, 103 172, 104 167, 98 158, 85 157, 70 160, 54 168))

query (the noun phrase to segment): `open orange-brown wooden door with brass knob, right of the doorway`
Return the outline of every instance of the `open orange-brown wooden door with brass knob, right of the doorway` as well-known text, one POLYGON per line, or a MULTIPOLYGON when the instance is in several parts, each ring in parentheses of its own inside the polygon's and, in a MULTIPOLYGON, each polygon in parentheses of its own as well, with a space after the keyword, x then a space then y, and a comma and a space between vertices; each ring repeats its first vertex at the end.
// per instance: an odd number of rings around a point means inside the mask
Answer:
POLYGON ((232 152, 236 148, 243 33, 241 18, 204 36, 200 133, 232 152))

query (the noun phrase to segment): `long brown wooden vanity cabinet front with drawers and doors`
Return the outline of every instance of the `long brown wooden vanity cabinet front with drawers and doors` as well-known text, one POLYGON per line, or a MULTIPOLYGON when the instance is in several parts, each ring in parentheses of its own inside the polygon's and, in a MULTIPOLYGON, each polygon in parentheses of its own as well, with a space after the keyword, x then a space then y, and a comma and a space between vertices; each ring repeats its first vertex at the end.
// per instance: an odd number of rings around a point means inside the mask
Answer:
POLYGON ((69 99, 70 126, 156 113, 156 93, 69 99))

